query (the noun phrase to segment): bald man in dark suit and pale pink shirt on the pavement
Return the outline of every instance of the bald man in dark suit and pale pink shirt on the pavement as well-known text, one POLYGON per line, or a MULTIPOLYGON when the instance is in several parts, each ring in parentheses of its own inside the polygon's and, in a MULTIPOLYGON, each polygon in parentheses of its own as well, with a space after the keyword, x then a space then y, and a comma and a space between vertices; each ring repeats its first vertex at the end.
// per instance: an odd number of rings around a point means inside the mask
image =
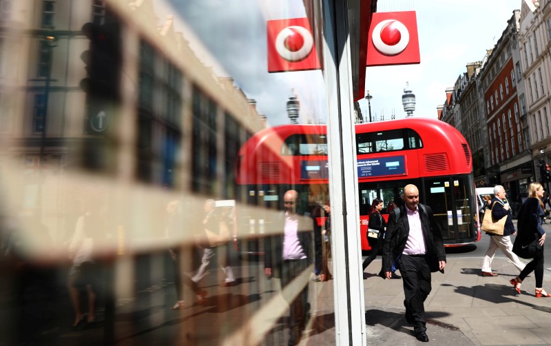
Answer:
POLYGON ((382 271, 391 278, 392 267, 400 269, 406 320, 413 325, 417 340, 428 342, 424 301, 432 289, 430 273, 444 272, 446 252, 433 211, 419 203, 417 187, 406 185, 403 198, 405 205, 388 216, 382 271))

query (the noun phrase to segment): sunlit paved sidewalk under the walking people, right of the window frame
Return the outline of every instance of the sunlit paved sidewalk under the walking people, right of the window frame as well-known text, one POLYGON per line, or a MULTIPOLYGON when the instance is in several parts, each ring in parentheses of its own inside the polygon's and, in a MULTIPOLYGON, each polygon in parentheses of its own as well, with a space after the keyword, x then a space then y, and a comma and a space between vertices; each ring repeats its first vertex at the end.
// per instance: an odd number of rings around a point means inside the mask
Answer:
MULTIPOLYGON (((534 274, 518 295, 509 283, 519 274, 507 258, 494 258, 495 277, 481 276, 482 258, 449 258, 445 274, 433 273, 425 302, 429 343, 436 345, 550 345, 551 298, 535 298, 534 274)), ((525 261, 527 263, 528 261, 525 261)), ((367 273, 377 273, 380 260, 367 273)), ((404 318, 402 280, 364 280, 368 345, 426 345, 404 318)), ((365 276, 364 276, 365 277, 365 276)), ((551 292, 551 278, 543 278, 551 292)), ((310 344, 309 340, 309 343, 310 344)))

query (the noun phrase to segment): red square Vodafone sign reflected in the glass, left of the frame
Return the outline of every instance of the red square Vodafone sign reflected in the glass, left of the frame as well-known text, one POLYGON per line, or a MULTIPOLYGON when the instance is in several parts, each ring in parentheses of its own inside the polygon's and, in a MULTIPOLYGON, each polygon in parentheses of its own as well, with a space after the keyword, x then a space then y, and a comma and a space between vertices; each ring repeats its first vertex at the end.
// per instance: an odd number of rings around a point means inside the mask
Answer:
POLYGON ((308 18, 267 22, 268 72, 321 68, 308 18))

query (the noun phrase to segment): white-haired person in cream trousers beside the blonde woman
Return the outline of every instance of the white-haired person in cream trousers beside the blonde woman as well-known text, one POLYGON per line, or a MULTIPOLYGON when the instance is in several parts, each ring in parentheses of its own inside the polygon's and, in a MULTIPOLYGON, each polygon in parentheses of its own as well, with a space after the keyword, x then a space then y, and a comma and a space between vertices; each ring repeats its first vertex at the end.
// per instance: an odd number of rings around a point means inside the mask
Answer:
POLYGON ((514 225, 512 224, 512 215, 511 208, 509 204, 503 203, 506 201, 506 192, 503 186, 495 185, 494 187, 494 198, 492 199, 492 218, 499 220, 504 216, 507 216, 505 222, 505 227, 503 228, 503 236, 498 236, 497 234, 490 235, 490 243, 488 244, 488 250, 486 250, 486 255, 484 255, 484 260, 482 262, 482 276, 497 276, 497 274, 492 273, 492 261, 494 260, 495 252, 499 248, 503 254, 505 254, 512 262, 512 264, 521 271, 524 269, 525 265, 519 260, 519 257, 512 252, 512 242, 511 234, 517 234, 517 231, 514 230, 514 225))

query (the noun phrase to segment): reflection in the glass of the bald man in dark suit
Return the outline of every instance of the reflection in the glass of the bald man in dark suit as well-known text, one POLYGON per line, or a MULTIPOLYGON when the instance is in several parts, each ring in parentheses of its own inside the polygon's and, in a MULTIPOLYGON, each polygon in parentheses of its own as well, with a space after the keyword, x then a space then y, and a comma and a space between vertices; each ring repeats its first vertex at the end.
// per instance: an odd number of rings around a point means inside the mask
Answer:
POLYGON ((292 292, 289 302, 289 345, 298 345, 306 325, 308 312, 308 282, 313 263, 313 219, 297 213, 298 192, 285 192, 284 212, 272 223, 271 236, 264 239, 264 272, 281 278, 284 289, 293 279, 302 277, 300 292, 292 292))

